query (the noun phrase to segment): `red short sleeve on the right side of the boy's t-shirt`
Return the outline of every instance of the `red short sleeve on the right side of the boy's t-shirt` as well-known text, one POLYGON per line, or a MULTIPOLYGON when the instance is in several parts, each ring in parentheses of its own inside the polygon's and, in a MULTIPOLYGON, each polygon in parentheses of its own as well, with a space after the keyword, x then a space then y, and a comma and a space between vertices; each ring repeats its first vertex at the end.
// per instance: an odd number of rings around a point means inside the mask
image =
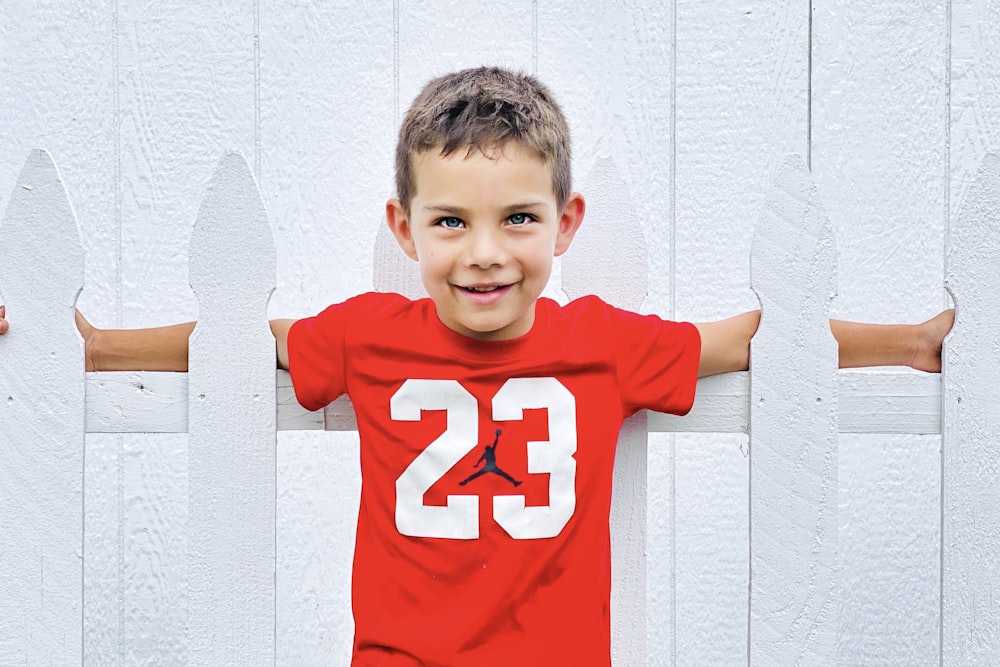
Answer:
POLYGON ((626 415, 648 409, 684 415, 698 385, 701 336, 689 322, 614 309, 618 381, 626 415))

